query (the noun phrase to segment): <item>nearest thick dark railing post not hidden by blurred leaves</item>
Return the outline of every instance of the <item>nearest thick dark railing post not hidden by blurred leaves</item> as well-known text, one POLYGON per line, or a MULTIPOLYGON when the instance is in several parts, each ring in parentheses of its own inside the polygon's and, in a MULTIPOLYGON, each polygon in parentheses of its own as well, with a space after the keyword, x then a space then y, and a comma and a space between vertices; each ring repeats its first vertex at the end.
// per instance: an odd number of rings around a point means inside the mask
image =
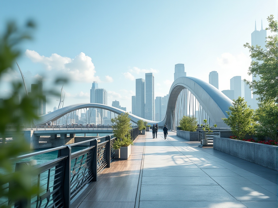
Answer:
MULTIPOLYGON (((70 207, 70 179, 71 179, 71 147, 69 145, 63 145, 63 146, 66 146, 67 148, 58 150, 58 157, 68 156, 64 164, 64 174, 62 177, 63 180, 62 194, 63 194, 64 207, 69 208, 70 207)), ((59 183, 61 181, 56 180, 55 182, 59 183)), ((61 194, 61 193, 57 193, 57 194, 61 194)), ((54 194, 53 197, 55 197, 54 194)))

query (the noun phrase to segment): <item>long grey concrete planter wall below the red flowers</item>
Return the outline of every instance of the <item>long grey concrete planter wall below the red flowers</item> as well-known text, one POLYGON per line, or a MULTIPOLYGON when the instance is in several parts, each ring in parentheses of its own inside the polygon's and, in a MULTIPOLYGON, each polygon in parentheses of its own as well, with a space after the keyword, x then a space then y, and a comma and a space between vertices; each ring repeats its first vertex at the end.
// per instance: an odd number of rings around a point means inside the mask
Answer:
POLYGON ((213 137, 213 148, 269 169, 278 170, 278 146, 213 137))

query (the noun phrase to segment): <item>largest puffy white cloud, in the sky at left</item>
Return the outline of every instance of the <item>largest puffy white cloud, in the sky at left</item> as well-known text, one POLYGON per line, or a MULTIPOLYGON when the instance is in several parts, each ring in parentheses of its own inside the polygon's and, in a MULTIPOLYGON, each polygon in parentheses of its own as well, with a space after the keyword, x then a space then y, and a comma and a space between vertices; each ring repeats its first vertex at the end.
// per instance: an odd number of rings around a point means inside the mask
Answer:
POLYGON ((49 57, 41 56, 36 51, 26 50, 26 56, 33 62, 42 63, 45 69, 51 71, 53 76, 69 76, 72 81, 91 82, 92 80, 100 81, 95 77, 95 66, 92 59, 81 52, 75 58, 60 56, 56 53, 49 57))

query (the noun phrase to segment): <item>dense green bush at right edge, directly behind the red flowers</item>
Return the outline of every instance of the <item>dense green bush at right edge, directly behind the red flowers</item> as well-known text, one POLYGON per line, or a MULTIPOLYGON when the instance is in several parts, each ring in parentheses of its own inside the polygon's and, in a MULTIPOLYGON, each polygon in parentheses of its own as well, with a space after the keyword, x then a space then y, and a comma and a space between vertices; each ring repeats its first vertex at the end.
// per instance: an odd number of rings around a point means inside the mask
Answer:
POLYGON ((255 111, 255 119, 258 123, 255 126, 258 139, 269 137, 278 140, 278 106, 274 102, 260 103, 255 111))

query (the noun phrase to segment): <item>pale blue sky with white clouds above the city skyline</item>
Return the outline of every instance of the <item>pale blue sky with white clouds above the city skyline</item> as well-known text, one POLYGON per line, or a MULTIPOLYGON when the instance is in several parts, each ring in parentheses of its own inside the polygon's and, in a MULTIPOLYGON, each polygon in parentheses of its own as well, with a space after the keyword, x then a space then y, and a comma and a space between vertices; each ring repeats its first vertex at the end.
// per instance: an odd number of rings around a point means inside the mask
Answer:
MULTIPOLYGON (((90 102, 92 82, 98 81, 99 88, 108 91, 108 105, 118 100, 131 111, 135 79, 153 72, 155 96, 164 96, 177 63, 185 64, 187 76, 207 82, 209 72, 217 71, 219 90, 230 89, 233 76, 250 80, 251 59, 243 44, 251 42, 255 19, 257 29, 261 20, 265 29, 267 16, 277 19, 277 8, 277 0, 3 0, 0 33, 9 20, 22 26, 33 19, 37 24, 34 39, 21 45, 23 56, 17 60, 27 88, 38 76, 44 77, 44 89, 52 86, 54 77, 67 76, 67 106, 90 102)), ((9 79, 0 81, 4 97, 9 88, 3 83, 9 79)), ((48 99, 46 110, 53 111, 59 97, 48 99)))

